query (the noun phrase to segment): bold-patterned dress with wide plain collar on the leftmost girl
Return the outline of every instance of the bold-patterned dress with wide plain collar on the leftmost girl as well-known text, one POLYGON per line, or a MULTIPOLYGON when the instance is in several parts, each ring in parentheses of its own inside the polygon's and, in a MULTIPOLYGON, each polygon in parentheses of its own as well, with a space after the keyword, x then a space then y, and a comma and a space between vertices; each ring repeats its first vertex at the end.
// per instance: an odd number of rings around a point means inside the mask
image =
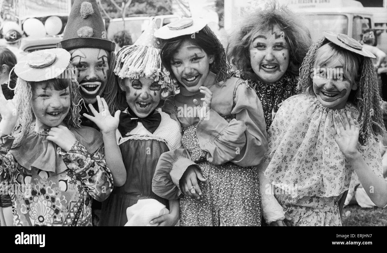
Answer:
POLYGON ((91 226, 91 200, 112 190, 101 134, 70 129, 77 141, 64 152, 48 141, 48 130, 31 132, 17 148, 0 138, 0 190, 12 199, 14 226, 91 226))

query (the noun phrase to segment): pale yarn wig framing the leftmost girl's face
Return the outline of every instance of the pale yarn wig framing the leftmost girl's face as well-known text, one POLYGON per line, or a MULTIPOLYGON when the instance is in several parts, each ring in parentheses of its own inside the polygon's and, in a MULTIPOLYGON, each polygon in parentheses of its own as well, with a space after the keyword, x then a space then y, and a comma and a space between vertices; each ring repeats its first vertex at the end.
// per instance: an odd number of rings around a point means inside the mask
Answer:
MULTIPOLYGON (((74 67, 69 63, 65 72, 63 73, 74 73, 74 67)), ((70 74, 69 74, 70 75, 70 74)), ((65 76, 65 75, 64 75, 65 76)), ((36 85, 36 83, 51 83, 53 84, 56 90, 62 90, 69 88, 70 90, 70 109, 68 114, 64 119, 64 122, 68 127, 80 127, 80 100, 81 96, 79 93, 79 84, 76 80, 75 75, 73 78, 69 76, 68 78, 54 78, 50 80, 45 80, 41 82, 27 82, 26 80, 17 78, 15 86, 15 96, 14 103, 16 104, 16 109, 19 112, 17 117, 15 132, 18 132, 15 135, 15 141, 13 148, 22 145, 27 134, 31 132, 31 124, 33 121, 33 111, 31 105, 32 99, 32 89, 31 85, 36 85)))

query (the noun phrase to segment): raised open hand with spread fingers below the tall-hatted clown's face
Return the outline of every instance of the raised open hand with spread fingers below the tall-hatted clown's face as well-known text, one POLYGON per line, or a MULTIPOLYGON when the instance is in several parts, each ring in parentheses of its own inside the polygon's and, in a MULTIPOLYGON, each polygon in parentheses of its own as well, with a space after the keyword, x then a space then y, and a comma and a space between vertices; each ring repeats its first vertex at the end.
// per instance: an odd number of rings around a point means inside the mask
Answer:
POLYGON ((102 134, 115 133, 118 123, 120 122, 120 113, 118 110, 115 112, 114 117, 110 115, 108 104, 104 98, 97 96, 98 110, 89 104, 90 110, 93 113, 94 117, 84 113, 84 117, 94 122, 99 129, 101 129, 102 134))

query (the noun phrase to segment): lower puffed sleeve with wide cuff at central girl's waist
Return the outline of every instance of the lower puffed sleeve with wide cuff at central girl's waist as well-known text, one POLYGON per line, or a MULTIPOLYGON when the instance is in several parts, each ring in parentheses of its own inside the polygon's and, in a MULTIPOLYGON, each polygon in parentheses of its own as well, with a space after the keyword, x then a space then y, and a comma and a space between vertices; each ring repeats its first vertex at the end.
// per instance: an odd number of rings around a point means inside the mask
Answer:
POLYGON ((152 191, 164 199, 178 199, 182 194, 179 180, 191 165, 197 166, 185 148, 161 154, 152 180, 152 191))

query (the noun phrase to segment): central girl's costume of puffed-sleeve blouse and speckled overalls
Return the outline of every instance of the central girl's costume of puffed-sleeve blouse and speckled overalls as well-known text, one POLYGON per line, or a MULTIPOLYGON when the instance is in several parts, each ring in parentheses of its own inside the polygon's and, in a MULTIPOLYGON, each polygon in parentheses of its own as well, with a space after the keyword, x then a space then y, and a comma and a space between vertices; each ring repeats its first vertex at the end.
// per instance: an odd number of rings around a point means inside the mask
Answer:
POLYGON ((267 151, 260 101, 247 82, 230 78, 207 86, 212 92, 209 120, 180 112, 190 95, 169 97, 163 110, 183 128, 183 148, 160 156, 152 190, 165 199, 180 198, 180 226, 260 226, 259 176, 255 165, 267 151), (182 195, 179 181, 197 166, 199 200, 182 195))

